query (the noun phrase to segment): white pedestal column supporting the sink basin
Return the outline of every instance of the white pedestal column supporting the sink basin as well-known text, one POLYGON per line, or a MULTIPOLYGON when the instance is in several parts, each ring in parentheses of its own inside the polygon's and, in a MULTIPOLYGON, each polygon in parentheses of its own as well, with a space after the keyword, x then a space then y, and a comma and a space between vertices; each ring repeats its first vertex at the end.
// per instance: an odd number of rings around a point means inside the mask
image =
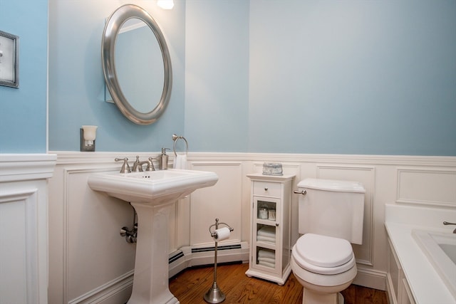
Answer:
POLYGON ((128 304, 179 303, 168 287, 168 219, 174 202, 157 206, 131 203, 138 214, 138 242, 128 304))

